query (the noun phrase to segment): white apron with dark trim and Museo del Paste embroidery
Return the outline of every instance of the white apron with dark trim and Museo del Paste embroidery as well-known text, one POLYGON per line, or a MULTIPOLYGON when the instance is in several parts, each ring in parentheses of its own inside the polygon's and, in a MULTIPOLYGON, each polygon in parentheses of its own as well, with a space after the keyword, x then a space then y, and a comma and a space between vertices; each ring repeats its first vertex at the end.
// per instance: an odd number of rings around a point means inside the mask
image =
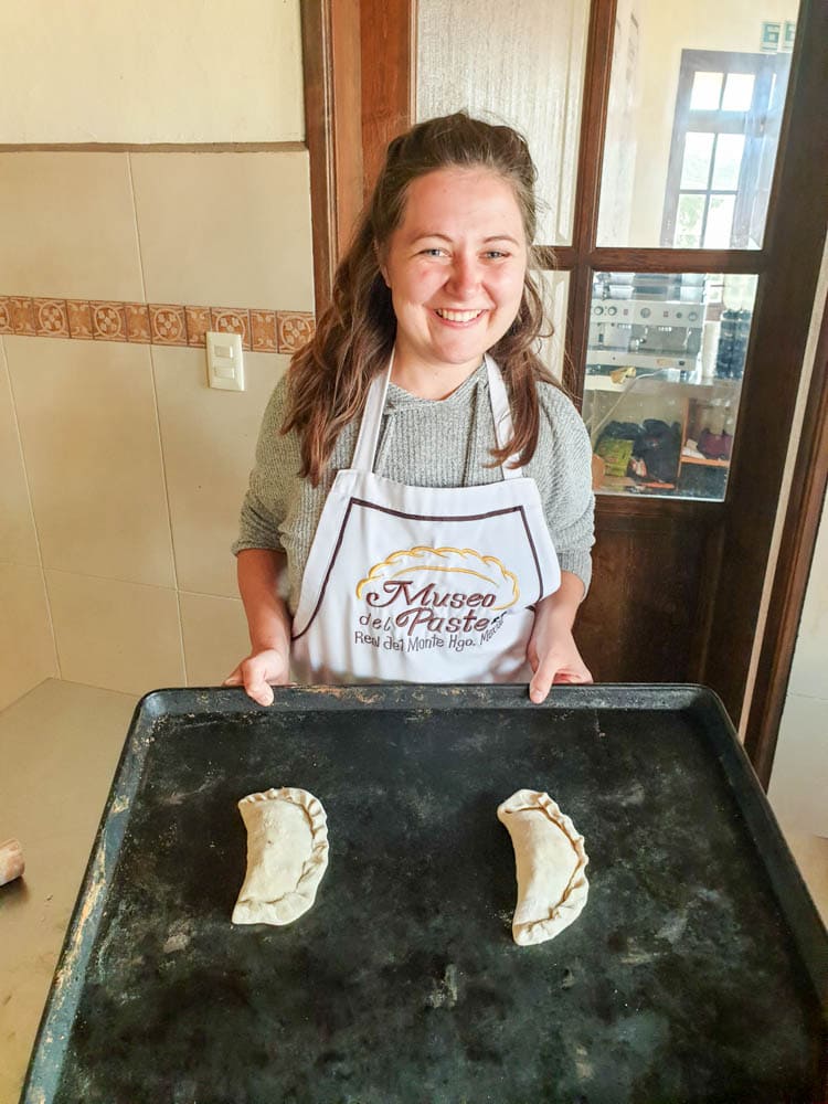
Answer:
MULTIPOLYGON (((512 433, 486 357, 498 447, 512 433)), ((337 473, 293 623, 302 682, 528 682, 531 606, 561 583, 534 479, 410 487, 373 473, 391 364, 369 390, 353 466, 337 473)))

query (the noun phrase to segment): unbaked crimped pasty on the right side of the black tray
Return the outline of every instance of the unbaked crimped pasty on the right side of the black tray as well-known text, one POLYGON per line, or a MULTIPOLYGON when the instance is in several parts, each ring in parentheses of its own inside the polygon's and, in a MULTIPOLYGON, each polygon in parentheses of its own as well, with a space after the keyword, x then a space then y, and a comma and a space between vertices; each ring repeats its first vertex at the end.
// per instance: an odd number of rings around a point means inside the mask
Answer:
POLYGON ((498 806, 518 874, 512 937, 527 946, 553 940, 581 915, 590 883, 584 837, 549 794, 519 789, 498 806))

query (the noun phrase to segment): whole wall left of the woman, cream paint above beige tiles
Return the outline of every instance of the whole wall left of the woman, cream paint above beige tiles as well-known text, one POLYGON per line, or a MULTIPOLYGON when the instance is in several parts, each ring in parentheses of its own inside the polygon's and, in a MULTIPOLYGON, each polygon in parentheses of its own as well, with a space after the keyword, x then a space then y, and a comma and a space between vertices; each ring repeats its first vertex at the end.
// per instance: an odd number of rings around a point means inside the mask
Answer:
MULTIPOLYGON (((243 21, 195 0, 81 8, 7 12, 0 144, 301 139, 298 0, 243 21)), ((307 151, 0 152, 0 708, 52 676, 215 683, 246 649, 229 545, 289 342, 245 353, 245 392, 215 391, 192 328, 178 346, 23 336, 42 322, 26 297, 64 318, 235 308, 255 342, 252 309, 275 329, 314 308, 307 151)))

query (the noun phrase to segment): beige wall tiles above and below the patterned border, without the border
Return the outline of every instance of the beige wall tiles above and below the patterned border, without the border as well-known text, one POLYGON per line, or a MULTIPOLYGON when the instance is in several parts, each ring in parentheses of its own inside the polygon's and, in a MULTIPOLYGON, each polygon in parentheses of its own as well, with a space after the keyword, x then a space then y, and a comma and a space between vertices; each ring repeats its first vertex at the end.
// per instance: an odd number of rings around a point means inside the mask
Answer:
MULTIPOLYGON (((0 155, 0 295, 312 309, 307 152, 0 155)), ((0 337, 0 708, 144 693, 247 651, 230 544, 288 358, 0 337)))

